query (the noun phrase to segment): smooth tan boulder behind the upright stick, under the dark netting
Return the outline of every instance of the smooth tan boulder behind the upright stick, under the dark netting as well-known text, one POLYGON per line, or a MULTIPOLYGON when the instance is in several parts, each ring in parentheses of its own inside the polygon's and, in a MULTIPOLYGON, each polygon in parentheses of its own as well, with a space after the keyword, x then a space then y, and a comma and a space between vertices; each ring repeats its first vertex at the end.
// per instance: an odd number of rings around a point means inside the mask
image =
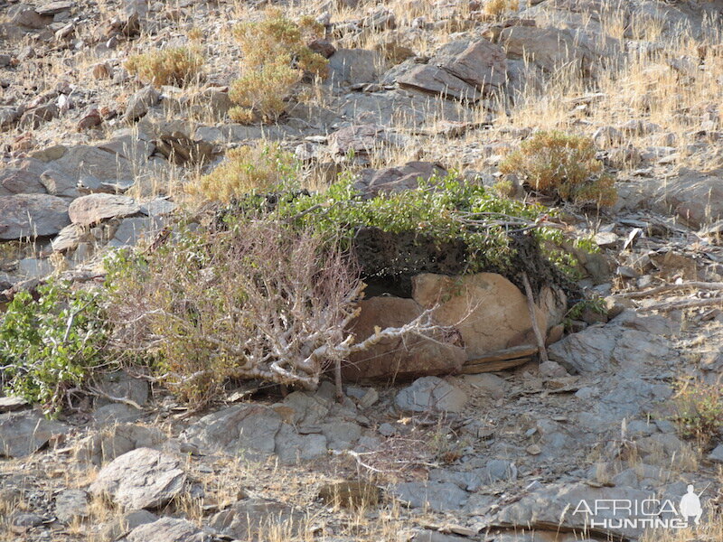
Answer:
MULTIPOLYGON (((427 308, 439 304, 435 312, 437 322, 459 330, 469 360, 495 350, 535 344, 527 298, 502 275, 424 273, 412 279, 412 287, 412 297, 418 304, 427 308)), ((545 333, 561 320, 564 301, 560 302, 545 288, 536 313, 540 331, 545 333)))

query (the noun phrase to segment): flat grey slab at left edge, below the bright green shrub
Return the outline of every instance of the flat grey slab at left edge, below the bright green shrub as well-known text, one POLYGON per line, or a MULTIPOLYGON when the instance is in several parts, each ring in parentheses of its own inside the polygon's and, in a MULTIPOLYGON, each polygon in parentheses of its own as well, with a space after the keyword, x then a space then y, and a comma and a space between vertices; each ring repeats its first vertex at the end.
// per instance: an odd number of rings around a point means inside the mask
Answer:
POLYGON ((46 419, 37 412, 0 415, 0 457, 24 457, 36 452, 53 436, 64 435, 68 427, 46 419))

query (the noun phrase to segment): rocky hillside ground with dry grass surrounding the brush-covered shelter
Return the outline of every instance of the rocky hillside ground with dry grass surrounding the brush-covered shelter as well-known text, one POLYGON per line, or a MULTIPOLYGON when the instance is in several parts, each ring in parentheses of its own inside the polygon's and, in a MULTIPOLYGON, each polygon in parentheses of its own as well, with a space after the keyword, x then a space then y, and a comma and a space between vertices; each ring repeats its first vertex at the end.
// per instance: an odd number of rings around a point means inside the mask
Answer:
MULTIPOLYGON (((723 4, 281 5, 325 24, 330 78, 300 86, 274 125, 233 124, 230 28, 266 4, 0 0, 0 303, 153 238, 229 148, 278 141, 312 188, 349 168, 370 190, 436 169, 493 186, 504 154, 555 128, 593 137, 615 174, 612 209, 564 210, 601 248, 580 285, 607 315, 571 322, 546 365, 350 384, 343 402, 328 383, 250 383, 197 413, 126 372, 58 420, 2 397, 0 539, 723 540, 721 435, 701 446, 671 423, 681 377, 723 375, 723 4), (183 89, 124 69, 189 41, 206 62, 183 89), (587 528, 573 513, 677 503, 689 483, 698 528, 587 528)), ((510 314, 491 336, 514 331, 510 314)))

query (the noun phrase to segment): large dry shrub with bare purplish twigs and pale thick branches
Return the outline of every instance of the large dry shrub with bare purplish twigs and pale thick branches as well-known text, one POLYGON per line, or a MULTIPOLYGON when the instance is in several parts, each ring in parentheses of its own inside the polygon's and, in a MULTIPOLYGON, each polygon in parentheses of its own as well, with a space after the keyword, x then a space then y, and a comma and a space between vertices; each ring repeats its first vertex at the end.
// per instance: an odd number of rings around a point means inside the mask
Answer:
POLYGON ((117 346, 143 350, 194 405, 228 378, 315 388, 361 285, 333 242, 273 220, 185 232, 114 271, 117 346))

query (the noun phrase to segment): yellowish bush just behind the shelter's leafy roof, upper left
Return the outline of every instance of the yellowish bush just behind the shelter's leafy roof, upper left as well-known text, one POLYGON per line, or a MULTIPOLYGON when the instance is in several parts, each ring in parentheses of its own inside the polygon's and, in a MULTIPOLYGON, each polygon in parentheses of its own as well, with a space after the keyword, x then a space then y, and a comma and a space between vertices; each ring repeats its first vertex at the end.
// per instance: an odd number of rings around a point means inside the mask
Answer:
POLYGON ((207 200, 230 201, 246 192, 271 192, 291 181, 297 169, 294 155, 276 144, 242 146, 230 149, 225 160, 188 191, 207 200))

